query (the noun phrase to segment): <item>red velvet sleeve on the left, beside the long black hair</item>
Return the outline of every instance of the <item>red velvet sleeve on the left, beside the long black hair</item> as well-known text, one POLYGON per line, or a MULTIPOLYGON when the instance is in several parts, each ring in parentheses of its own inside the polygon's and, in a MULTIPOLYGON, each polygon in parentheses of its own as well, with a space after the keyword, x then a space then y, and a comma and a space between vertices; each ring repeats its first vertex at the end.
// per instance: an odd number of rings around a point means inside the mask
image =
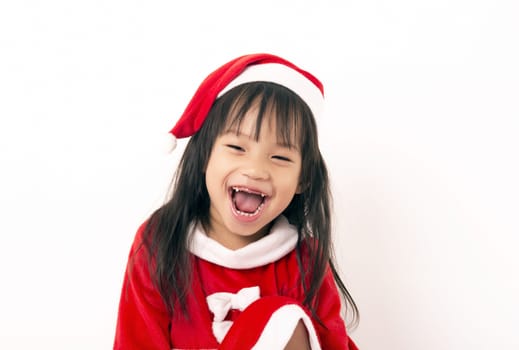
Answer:
POLYGON ((151 282, 142 225, 130 250, 124 277, 114 341, 115 350, 169 350, 166 306, 151 282))

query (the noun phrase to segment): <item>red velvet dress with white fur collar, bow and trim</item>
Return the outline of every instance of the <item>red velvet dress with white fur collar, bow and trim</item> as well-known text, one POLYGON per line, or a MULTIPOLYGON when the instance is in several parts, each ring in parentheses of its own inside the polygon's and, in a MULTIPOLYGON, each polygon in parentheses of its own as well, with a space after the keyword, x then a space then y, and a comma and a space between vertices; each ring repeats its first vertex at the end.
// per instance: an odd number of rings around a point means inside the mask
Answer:
POLYGON ((210 239, 200 226, 193 228, 189 319, 181 311, 168 314, 153 286, 146 250, 136 249, 142 231, 130 251, 132 267, 123 283, 114 349, 283 349, 300 319, 312 350, 357 349, 340 316, 330 269, 317 293, 323 324, 302 305, 297 232, 286 218, 278 218, 267 236, 238 250, 210 239))

